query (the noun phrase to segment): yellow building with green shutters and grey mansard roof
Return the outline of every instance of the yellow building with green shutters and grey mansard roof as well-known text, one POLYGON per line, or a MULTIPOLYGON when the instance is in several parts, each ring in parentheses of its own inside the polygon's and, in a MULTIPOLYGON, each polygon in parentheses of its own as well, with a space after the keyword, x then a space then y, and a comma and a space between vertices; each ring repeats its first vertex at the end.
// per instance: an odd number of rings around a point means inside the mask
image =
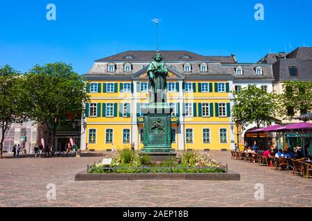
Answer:
MULTIPOLYGON (((188 51, 160 51, 168 68, 167 102, 176 151, 234 149, 232 108, 234 55, 207 57, 188 51), (233 70, 232 70, 233 69, 233 70), (223 70, 227 70, 224 72, 223 70), (230 71, 229 71, 230 70, 230 71)), ((85 75, 85 143, 90 150, 143 147, 143 113, 148 104, 148 64, 155 51, 126 51, 96 60, 85 75)))

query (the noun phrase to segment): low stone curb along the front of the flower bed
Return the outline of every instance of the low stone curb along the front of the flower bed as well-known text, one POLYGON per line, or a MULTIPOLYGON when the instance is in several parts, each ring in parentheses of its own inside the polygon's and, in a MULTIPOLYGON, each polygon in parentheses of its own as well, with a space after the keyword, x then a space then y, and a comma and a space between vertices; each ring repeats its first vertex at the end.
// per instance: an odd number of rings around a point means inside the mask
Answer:
POLYGON ((241 175, 228 173, 87 173, 75 175, 75 181, 89 180, 241 180, 241 175))

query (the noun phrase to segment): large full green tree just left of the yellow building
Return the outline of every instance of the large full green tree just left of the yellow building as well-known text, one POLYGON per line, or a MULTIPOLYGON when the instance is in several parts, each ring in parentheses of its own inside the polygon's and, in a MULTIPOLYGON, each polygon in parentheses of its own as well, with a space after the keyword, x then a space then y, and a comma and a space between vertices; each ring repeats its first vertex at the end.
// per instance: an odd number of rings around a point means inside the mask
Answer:
POLYGON ((36 65, 25 76, 24 88, 28 97, 28 116, 46 124, 49 143, 55 152, 55 132, 58 122, 69 115, 80 118, 89 96, 82 76, 73 72, 69 64, 36 65))

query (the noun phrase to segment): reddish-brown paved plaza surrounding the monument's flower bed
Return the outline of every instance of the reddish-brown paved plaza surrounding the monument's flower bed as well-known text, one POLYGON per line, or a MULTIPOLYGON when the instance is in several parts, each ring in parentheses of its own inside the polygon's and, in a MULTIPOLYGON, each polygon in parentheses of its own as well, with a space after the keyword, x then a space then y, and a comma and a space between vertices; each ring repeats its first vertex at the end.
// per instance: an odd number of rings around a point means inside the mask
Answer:
POLYGON ((312 179, 267 166, 214 159, 241 173, 241 181, 136 180, 75 182, 76 173, 101 157, 0 160, 0 206, 312 206, 312 179), (46 185, 56 185, 56 200, 46 200, 46 185), (255 200, 255 184, 264 199, 255 200))

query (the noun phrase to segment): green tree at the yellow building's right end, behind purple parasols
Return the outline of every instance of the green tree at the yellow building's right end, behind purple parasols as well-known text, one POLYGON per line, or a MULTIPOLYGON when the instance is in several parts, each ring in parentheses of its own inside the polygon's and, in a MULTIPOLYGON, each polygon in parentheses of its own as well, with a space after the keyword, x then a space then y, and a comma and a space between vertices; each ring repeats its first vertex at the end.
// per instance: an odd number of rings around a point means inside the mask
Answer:
POLYGON ((272 124, 276 105, 273 93, 249 85, 240 93, 234 92, 234 95, 232 117, 235 122, 241 122, 242 126, 255 123, 257 128, 260 128, 261 124, 272 124))

